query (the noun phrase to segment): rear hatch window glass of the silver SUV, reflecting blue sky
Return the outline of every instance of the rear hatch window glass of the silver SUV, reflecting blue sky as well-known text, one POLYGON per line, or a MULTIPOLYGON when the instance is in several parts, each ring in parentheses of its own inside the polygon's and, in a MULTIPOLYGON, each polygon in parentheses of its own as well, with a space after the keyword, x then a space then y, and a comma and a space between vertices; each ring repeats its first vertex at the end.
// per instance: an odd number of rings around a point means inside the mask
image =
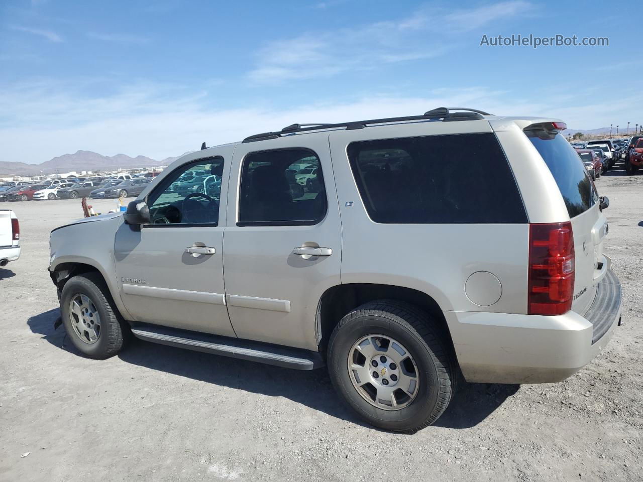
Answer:
POLYGON ((598 201, 598 194, 574 148, 560 134, 553 139, 542 139, 529 132, 526 134, 552 172, 569 217, 573 218, 591 208, 598 201))

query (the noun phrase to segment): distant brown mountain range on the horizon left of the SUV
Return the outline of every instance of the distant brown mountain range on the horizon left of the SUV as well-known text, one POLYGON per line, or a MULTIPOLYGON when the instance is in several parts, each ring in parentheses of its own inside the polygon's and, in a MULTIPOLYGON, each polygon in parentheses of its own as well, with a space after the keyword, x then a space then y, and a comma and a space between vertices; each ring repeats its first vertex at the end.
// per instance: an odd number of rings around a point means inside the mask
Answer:
MULTIPOLYGON (((183 155, 183 154, 182 154, 183 155)), ((64 154, 54 157, 41 164, 27 164, 0 161, 0 175, 39 175, 55 174, 56 172, 69 171, 105 171, 114 169, 131 169, 153 166, 167 166, 181 156, 166 157, 162 161, 155 161, 150 157, 130 157, 125 154, 116 156, 103 156, 91 150, 78 150, 75 154, 64 154)))

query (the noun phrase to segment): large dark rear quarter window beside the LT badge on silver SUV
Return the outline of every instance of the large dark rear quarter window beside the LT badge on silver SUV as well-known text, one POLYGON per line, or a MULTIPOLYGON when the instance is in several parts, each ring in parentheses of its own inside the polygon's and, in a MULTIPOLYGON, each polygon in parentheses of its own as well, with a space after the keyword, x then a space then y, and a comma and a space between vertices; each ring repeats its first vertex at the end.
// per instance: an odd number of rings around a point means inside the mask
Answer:
POLYGON ((527 222, 516 181, 494 134, 359 141, 347 152, 374 222, 527 222))

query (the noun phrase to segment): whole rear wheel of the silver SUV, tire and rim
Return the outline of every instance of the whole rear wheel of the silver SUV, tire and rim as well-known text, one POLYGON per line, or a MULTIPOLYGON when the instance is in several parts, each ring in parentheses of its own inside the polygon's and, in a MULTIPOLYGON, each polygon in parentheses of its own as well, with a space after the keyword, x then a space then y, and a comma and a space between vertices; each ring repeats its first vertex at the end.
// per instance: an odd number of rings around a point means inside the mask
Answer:
POLYGON ((331 381, 368 423, 414 433, 446 410, 457 368, 447 338, 421 310, 372 301, 347 314, 328 348, 331 381))

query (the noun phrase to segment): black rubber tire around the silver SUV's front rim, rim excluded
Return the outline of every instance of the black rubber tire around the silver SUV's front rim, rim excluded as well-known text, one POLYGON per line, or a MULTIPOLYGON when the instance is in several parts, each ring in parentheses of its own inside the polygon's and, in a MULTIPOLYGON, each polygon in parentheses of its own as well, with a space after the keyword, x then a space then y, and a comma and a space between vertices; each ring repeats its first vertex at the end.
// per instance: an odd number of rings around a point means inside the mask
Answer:
POLYGON ((60 314, 62 325, 74 346, 83 355, 89 358, 104 360, 120 352, 124 344, 131 337, 127 321, 118 312, 114 300, 100 274, 88 272, 73 276, 65 283, 60 295, 60 314), (84 294, 96 307, 100 316, 100 333, 93 344, 88 344, 80 339, 73 329, 69 317, 69 303, 77 294, 84 294))

